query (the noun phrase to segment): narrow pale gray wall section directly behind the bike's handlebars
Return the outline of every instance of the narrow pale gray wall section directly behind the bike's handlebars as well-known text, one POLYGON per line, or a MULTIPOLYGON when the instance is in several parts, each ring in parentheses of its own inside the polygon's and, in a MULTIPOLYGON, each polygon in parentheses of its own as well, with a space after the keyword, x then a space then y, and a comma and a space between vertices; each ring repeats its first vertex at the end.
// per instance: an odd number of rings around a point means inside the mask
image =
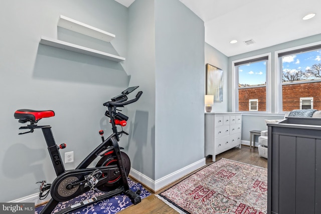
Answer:
POLYGON ((154 1, 136 0, 129 7, 128 71, 130 85, 143 91, 131 105, 135 118, 128 143, 132 167, 149 178, 155 173, 155 20, 154 1))

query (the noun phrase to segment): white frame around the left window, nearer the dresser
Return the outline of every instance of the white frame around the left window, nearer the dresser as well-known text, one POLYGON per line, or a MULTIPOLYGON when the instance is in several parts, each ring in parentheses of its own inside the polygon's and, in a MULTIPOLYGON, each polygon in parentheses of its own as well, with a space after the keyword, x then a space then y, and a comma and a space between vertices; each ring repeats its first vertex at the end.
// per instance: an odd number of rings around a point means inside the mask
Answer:
POLYGON ((238 74, 235 69, 235 63, 242 62, 242 61, 247 61, 247 60, 252 60, 256 58, 261 58, 261 57, 268 57, 268 60, 266 62, 266 111, 250 111, 250 113, 271 113, 272 110, 272 88, 270 81, 272 79, 272 71, 271 71, 271 53, 266 53, 266 54, 261 54, 245 59, 240 59, 240 60, 235 60, 232 61, 232 112, 237 112, 238 111, 238 74))

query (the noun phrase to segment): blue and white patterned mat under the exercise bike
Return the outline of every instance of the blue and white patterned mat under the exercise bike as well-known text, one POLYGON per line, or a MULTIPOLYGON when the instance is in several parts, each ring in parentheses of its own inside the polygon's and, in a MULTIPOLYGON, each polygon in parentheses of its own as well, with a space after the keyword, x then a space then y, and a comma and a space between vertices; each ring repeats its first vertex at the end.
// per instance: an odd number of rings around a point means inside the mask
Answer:
MULTIPOLYGON (((129 188, 131 190, 133 190, 134 192, 137 191, 138 189, 141 190, 141 192, 140 192, 141 199, 150 195, 150 192, 148 192, 146 189, 144 189, 140 183, 135 183, 134 181, 132 181, 129 178, 127 178, 127 180, 128 180, 129 188)), ((88 200, 88 199, 96 197, 96 196, 100 196, 102 194, 104 194, 104 192, 102 192, 98 189, 95 189, 94 191, 88 191, 84 194, 79 195, 78 197, 71 199, 71 200, 68 200, 65 202, 59 202, 52 213, 58 212, 61 209, 64 209, 68 206, 74 205, 76 203, 79 203, 84 200, 88 200)), ((87 213, 114 214, 114 213, 117 213, 117 212, 125 209, 126 207, 130 206, 131 204, 132 204, 132 202, 130 201, 130 199, 127 195, 119 194, 119 195, 116 195, 116 196, 113 196, 113 197, 110 197, 107 199, 102 199, 102 200, 96 201, 92 204, 89 204, 87 206, 83 206, 83 207, 76 209, 74 211, 71 211, 69 213, 70 214, 80 214, 80 213, 82 213, 82 214, 87 214, 87 213)), ((40 211, 44 207, 45 207, 45 205, 37 207, 35 209, 35 214, 40 213, 40 211)))

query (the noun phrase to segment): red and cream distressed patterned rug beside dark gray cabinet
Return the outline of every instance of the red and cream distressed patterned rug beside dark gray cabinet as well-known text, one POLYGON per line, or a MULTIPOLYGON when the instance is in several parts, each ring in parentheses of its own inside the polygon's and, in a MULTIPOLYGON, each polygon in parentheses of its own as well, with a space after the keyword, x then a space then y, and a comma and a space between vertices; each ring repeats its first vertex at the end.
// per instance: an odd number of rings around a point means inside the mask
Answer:
POLYGON ((267 169, 220 159, 162 197, 186 213, 267 213, 267 169))

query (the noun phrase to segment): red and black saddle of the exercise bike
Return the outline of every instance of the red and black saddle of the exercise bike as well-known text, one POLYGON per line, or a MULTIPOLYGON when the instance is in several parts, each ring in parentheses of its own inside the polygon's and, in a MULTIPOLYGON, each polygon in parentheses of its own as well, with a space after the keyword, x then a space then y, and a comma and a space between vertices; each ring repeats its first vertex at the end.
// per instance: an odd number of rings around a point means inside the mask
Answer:
POLYGON ((55 116, 55 112, 52 110, 37 111, 31 109, 19 109, 15 112, 14 116, 16 119, 19 119, 20 121, 32 121, 36 123, 38 120, 42 118, 55 116))

